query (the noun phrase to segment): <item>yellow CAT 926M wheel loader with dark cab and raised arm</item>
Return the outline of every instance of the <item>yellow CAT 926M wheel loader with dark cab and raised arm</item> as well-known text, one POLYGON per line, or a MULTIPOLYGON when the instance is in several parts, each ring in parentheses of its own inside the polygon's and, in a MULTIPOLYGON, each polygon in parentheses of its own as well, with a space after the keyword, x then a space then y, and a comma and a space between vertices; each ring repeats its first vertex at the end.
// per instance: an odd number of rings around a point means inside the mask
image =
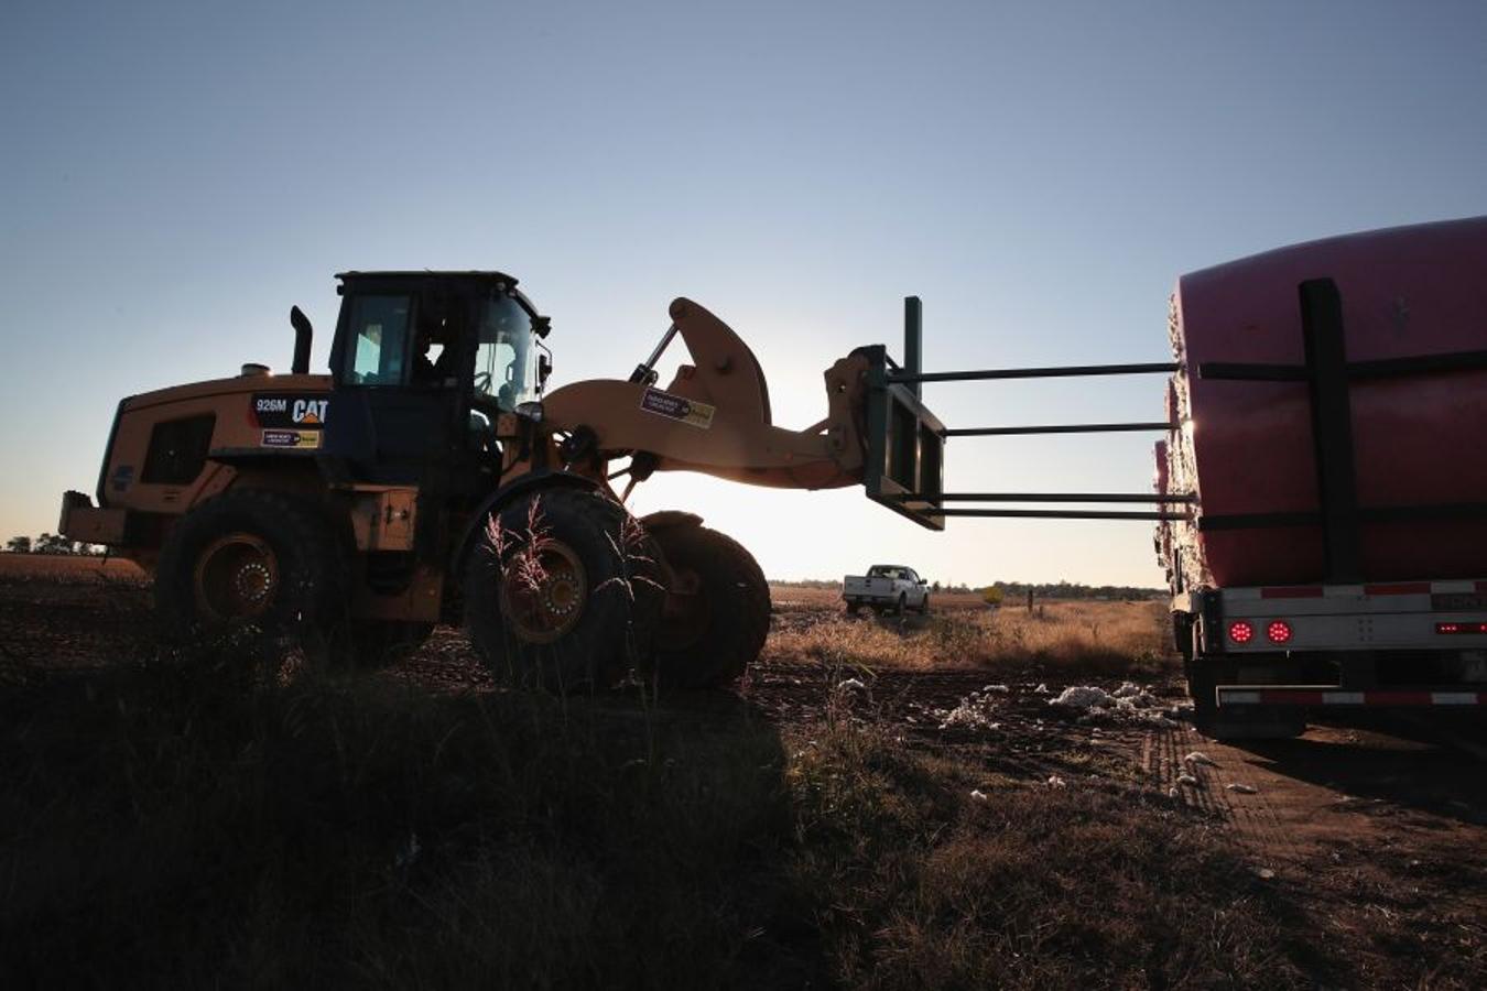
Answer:
POLYGON ((886 383, 882 346, 827 368, 825 417, 790 431, 754 354, 691 300, 628 377, 549 392, 550 321, 515 278, 336 278, 329 374, 309 373, 294 308, 290 374, 245 364, 125 398, 97 504, 62 499, 65 536, 153 575, 172 636, 253 627, 370 666, 452 623, 516 685, 602 688, 635 669, 720 685, 763 646, 764 575, 697 514, 632 517, 636 483, 686 469, 827 489, 876 459, 874 480, 938 486, 938 452, 919 453, 938 425, 886 383), (677 337, 690 360, 659 388, 677 337))

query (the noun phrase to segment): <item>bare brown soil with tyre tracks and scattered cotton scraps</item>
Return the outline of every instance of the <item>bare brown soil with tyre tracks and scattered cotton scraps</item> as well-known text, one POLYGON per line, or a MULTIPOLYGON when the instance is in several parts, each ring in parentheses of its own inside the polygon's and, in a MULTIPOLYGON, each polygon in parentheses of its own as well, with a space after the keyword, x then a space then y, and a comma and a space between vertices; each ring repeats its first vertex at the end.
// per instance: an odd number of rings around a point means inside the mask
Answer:
MULTIPOLYGON (((773 628, 840 615, 830 596, 807 593, 775 590, 773 628)), ((138 655, 149 645, 149 603, 147 582, 122 562, 0 556, 0 686, 42 669, 138 655)), ((446 627, 378 676, 440 691, 494 689, 464 636, 446 627)), ((1160 706, 1145 719, 1050 704, 1069 683, 1115 689, 1120 682, 1036 667, 827 670, 779 663, 766 646, 738 694, 785 728, 828 713, 858 719, 987 780, 1094 782, 1169 801, 1243 851, 1261 878, 1315 909, 1310 918, 1328 930, 1316 938, 1344 940, 1365 973, 1370 955, 1387 973, 1387 958, 1401 952, 1465 954, 1487 972, 1487 734, 1480 716, 1334 718, 1298 740, 1227 746, 1184 719, 1175 678, 1146 686, 1160 706), (972 692, 978 719, 949 719, 972 692)), ((697 701, 705 703, 680 704, 697 701)))

